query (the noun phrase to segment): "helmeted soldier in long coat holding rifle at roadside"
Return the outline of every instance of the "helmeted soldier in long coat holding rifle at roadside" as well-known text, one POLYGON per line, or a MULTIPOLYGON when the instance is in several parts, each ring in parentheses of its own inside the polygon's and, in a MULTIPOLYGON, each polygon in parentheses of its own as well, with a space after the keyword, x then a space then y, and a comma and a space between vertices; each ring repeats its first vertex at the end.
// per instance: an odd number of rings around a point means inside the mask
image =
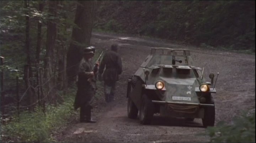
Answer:
POLYGON ((95 54, 95 47, 90 46, 84 48, 83 58, 80 61, 78 70, 78 90, 76 93, 74 108, 80 107, 80 122, 95 123, 91 118, 92 101, 96 93, 96 79, 95 75, 98 72, 98 63, 94 69, 92 64, 92 57, 95 54))

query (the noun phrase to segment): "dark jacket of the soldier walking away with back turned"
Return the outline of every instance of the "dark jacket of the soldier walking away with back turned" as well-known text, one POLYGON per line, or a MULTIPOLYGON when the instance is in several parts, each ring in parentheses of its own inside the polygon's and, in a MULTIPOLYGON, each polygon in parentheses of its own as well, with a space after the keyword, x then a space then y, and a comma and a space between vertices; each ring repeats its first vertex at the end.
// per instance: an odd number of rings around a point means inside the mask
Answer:
POLYGON ((115 51, 108 51, 100 63, 99 74, 103 73, 104 81, 118 81, 118 75, 122 73, 122 60, 115 51), (105 69, 104 73, 103 70, 105 69))

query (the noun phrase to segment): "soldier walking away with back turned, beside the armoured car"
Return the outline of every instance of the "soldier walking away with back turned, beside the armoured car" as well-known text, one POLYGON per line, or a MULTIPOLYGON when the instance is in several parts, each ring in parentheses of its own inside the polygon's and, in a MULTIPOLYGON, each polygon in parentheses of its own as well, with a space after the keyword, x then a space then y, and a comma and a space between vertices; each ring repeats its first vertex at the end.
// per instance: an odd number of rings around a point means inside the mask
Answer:
POLYGON ((101 80, 101 74, 103 73, 104 81, 104 93, 105 101, 111 102, 114 100, 114 93, 116 88, 116 81, 118 81, 118 75, 122 73, 122 60, 117 53, 118 45, 112 44, 111 51, 108 51, 102 58, 100 69, 99 69, 99 79, 101 80))

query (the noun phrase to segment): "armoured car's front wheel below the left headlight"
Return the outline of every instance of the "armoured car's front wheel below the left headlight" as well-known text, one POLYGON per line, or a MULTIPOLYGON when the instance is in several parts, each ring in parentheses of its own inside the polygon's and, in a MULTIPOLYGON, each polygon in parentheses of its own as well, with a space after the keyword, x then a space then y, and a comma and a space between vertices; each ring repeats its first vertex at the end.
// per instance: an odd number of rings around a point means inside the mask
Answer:
POLYGON ((142 95, 142 104, 139 111, 139 119, 140 123, 143 125, 150 124, 154 115, 154 104, 151 100, 146 96, 146 94, 142 95))

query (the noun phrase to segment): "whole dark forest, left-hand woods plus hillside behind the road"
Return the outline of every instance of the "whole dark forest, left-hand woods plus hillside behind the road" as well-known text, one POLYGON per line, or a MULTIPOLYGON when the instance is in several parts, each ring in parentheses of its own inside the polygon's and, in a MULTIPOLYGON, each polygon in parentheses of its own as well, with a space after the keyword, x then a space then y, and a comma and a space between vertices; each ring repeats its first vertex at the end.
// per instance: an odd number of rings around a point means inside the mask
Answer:
POLYGON ((1 142, 53 141, 92 32, 255 54, 255 1, 0 1, 1 142))

